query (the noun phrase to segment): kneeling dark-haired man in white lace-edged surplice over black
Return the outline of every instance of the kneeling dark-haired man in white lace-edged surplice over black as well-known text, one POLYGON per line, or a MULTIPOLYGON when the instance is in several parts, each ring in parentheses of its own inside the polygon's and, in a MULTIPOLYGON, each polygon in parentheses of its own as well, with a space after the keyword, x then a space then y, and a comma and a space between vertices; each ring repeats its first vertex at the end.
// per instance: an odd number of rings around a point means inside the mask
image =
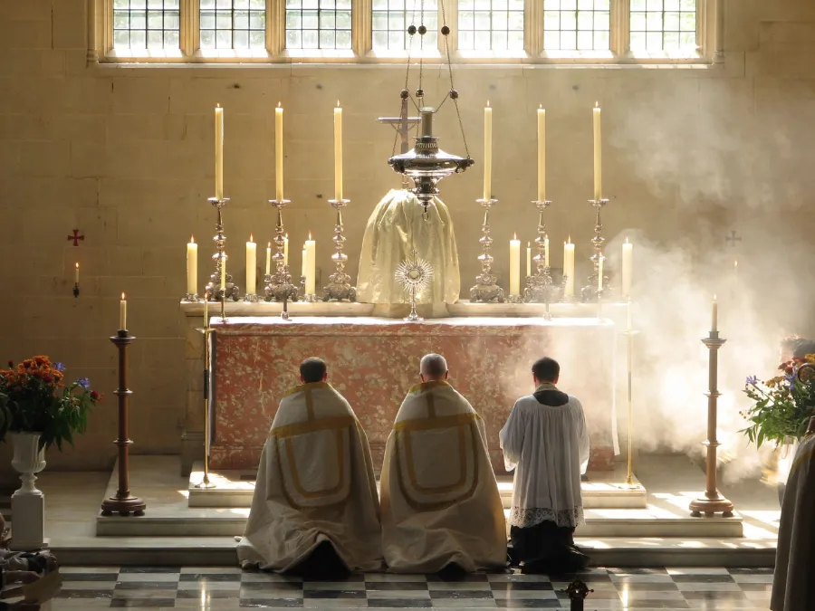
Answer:
POLYGON ((557 361, 535 361, 535 392, 515 402, 500 434, 506 469, 515 470, 509 554, 530 573, 569 573, 589 559, 574 546, 589 432, 580 401, 555 386, 560 374, 557 361))

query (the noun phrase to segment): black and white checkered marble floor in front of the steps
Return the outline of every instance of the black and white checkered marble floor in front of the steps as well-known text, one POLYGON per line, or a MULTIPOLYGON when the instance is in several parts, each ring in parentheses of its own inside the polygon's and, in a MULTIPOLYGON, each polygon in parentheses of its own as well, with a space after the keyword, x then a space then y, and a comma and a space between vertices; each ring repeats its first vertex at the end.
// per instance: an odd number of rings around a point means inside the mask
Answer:
MULTIPOLYGON (((56 611, 102 607, 568 609, 567 578, 368 574, 342 581, 303 581, 239 568, 64 568, 56 611)), ((769 608, 769 568, 593 568, 580 578, 594 593, 585 609, 769 608)))

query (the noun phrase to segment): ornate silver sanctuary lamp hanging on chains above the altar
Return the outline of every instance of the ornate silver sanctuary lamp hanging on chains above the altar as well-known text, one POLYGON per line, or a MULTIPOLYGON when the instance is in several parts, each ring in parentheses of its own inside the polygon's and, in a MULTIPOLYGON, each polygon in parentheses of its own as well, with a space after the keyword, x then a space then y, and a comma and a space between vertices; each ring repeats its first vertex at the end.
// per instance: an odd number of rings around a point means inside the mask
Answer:
MULTIPOLYGON (((420 132, 416 138, 416 143, 411 150, 404 152, 400 155, 394 155, 388 159, 388 164, 393 167, 394 171, 398 172, 404 177, 413 180, 414 188, 413 193, 416 194, 419 203, 424 207, 424 217, 429 218, 428 208, 433 204, 433 197, 438 195, 438 182, 445 177, 453 174, 460 174, 464 172, 467 167, 472 166, 475 162, 470 158, 469 150, 467 150, 467 140, 464 133, 464 124, 461 120, 461 113, 458 109, 458 91, 455 91, 453 83, 453 63, 450 57, 450 48, 447 43, 447 36, 450 34, 450 28, 446 24, 445 3, 441 3, 442 9, 442 28, 441 34, 444 37, 445 55, 447 62, 447 73, 450 75, 450 90, 447 91, 446 96, 434 108, 428 106, 425 102, 425 90, 422 86, 422 55, 419 55, 418 67, 418 86, 415 91, 415 96, 411 97, 408 90, 408 81, 410 77, 410 48, 413 45, 414 36, 418 33, 420 48, 424 46, 424 36, 427 34, 427 26, 425 26, 425 12, 424 5, 419 11, 419 25, 418 27, 411 24, 408 27, 408 36, 410 43, 408 44, 408 68, 405 74, 405 88, 400 91, 399 97, 402 100, 403 109, 405 102, 410 100, 419 111, 421 116, 420 132), (453 100, 455 106, 455 114, 458 117, 458 125, 461 129, 461 137, 464 141, 466 158, 461 158, 438 148, 438 138, 433 135, 433 115, 442 107, 446 100, 453 100)), ((403 110, 401 115, 406 114, 403 110)), ((394 152, 396 151, 396 142, 394 142, 394 152)))

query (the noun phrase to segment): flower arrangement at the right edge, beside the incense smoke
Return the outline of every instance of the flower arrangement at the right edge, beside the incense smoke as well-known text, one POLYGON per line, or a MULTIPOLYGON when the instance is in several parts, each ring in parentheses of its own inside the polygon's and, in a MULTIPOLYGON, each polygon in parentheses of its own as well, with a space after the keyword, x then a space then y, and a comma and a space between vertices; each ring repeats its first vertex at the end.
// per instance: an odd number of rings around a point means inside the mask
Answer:
POLYGON ((744 394, 755 403, 742 412, 752 423, 742 433, 753 444, 761 447, 772 441, 781 445, 806 434, 810 416, 815 415, 815 381, 798 376, 805 364, 815 364, 815 354, 781 363, 781 375, 764 382, 755 376, 747 378, 744 394))

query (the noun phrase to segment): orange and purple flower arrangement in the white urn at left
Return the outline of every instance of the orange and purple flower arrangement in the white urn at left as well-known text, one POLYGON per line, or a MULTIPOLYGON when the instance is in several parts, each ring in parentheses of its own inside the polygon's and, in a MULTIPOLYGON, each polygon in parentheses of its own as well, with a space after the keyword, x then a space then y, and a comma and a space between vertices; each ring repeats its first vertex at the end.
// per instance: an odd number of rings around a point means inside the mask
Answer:
POLYGON ((73 444, 73 434, 84 433, 88 412, 101 401, 87 377, 66 384, 62 363, 48 357, 27 358, 0 369, 0 441, 9 431, 39 433, 40 448, 62 442, 73 444))

